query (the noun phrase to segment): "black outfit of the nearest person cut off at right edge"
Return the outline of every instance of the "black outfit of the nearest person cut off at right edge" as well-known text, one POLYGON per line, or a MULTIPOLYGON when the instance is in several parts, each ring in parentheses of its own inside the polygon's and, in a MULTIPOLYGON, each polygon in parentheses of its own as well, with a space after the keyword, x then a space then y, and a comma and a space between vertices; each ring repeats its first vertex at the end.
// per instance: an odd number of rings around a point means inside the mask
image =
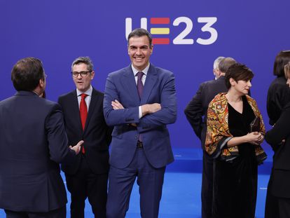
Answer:
POLYGON ((265 200, 265 218, 290 217, 290 102, 265 140, 274 150, 273 166, 265 200))

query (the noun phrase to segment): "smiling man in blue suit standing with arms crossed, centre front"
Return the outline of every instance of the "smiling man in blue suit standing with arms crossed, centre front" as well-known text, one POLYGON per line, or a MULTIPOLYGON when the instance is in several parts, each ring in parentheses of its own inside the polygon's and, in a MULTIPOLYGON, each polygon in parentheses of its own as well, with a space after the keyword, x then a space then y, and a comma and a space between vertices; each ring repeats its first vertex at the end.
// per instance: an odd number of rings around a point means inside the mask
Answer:
POLYGON ((113 125, 107 218, 125 217, 137 177, 141 217, 158 217, 165 166, 174 161, 167 124, 177 118, 172 72, 149 63, 146 29, 128 36, 132 64, 109 74, 104 92, 106 123, 113 125))

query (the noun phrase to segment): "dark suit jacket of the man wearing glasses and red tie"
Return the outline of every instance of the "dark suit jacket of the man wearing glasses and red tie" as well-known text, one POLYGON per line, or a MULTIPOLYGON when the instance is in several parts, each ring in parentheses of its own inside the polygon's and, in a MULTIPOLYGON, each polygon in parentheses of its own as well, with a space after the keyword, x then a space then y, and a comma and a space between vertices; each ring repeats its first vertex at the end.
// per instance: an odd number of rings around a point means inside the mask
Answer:
MULTIPOLYGON (((64 113, 64 123, 69 144, 74 145, 80 140, 84 141, 85 159, 95 174, 107 173, 109 170, 111 128, 104 121, 103 99, 104 94, 93 88, 85 130, 81 126, 76 90, 62 95, 58 99, 64 113)), ((62 164, 62 170, 69 175, 74 175, 78 170, 80 162, 81 154, 77 156, 75 165, 62 164)))

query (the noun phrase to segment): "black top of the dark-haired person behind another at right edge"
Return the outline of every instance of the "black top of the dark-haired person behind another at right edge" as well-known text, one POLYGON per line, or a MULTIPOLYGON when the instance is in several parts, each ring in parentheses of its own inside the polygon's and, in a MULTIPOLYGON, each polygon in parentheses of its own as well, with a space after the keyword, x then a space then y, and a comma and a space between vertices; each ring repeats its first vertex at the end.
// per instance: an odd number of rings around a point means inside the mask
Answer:
POLYGON ((272 81, 267 95, 267 112, 270 125, 274 125, 282 113, 284 106, 290 102, 290 89, 284 76, 272 81))

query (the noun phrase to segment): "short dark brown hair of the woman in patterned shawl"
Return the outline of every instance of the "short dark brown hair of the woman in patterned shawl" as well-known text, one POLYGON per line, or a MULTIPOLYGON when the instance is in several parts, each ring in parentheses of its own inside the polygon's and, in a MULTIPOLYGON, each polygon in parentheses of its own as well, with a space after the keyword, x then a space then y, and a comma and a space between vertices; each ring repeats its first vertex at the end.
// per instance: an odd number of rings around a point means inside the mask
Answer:
POLYGON ((231 85, 230 85, 230 78, 233 78, 236 82, 237 81, 249 81, 251 79, 253 79, 254 74, 251 71, 251 69, 249 69, 249 67, 247 67, 244 64, 239 64, 239 63, 235 63, 232 64, 229 68, 228 71, 226 71, 226 88, 230 89, 231 85))

